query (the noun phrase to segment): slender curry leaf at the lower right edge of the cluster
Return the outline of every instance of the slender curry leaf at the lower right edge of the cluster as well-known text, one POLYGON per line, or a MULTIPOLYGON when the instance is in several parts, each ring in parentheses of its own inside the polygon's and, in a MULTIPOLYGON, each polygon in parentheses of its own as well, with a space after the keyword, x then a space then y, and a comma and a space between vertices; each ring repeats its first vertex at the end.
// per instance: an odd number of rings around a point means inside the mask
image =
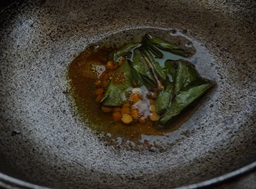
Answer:
POLYGON ((205 94, 211 84, 202 84, 200 86, 192 87, 188 91, 178 94, 172 102, 172 105, 168 108, 167 112, 161 117, 160 125, 164 126, 172 117, 177 116, 182 110, 184 110, 191 102, 205 94))

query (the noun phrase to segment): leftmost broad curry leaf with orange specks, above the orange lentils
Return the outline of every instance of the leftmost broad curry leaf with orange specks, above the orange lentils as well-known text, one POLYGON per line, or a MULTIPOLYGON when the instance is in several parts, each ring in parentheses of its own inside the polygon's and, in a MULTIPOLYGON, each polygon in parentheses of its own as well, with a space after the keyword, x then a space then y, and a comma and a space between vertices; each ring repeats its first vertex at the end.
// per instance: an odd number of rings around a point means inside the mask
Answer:
POLYGON ((132 73, 127 60, 116 70, 104 93, 101 102, 104 105, 122 105, 127 101, 129 88, 132 87, 132 73))

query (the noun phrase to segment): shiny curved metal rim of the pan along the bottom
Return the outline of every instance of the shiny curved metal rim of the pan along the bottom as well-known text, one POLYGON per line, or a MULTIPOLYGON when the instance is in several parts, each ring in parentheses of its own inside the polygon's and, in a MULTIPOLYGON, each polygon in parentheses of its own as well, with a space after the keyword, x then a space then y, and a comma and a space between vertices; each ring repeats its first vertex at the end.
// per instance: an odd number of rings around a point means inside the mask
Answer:
MULTIPOLYGON (((206 181, 202 181, 200 183, 195 183, 192 185, 180 186, 174 189, 195 189, 195 188, 208 188, 209 186, 217 186, 223 183, 232 183, 233 179, 241 179, 243 176, 246 176, 253 171, 256 170, 256 161, 241 167, 240 169, 234 170, 227 174, 223 174, 216 178, 212 178, 206 181)), ((51 189, 49 187, 35 185, 26 181, 22 181, 20 179, 13 178, 12 176, 8 176, 0 172, 0 186, 10 188, 10 189, 18 189, 18 188, 28 188, 28 189, 51 189)))

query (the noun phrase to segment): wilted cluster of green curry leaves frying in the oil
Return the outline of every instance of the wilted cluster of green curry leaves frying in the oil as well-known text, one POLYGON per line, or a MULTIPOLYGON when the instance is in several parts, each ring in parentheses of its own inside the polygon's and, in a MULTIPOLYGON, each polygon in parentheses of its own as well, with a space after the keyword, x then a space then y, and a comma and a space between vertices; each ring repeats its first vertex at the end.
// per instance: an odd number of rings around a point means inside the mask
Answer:
POLYGON ((127 43, 113 52, 113 62, 125 58, 115 70, 101 102, 123 105, 134 87, 146 87, 156 96, 159 125, 166 127, 192 102, 212 87, 212 82, 198 76, 194 66, 184 60, 188 52, 165 40, 146 34, 141 43, 127 43))

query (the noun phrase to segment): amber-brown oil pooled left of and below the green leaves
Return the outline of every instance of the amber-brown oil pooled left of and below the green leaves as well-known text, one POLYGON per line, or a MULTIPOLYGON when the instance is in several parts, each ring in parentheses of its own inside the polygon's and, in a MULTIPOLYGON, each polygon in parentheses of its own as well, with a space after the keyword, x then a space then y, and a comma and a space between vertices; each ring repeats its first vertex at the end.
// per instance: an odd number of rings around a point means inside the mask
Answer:
MULTIPOLYGON (((102 139, 109 145, 125 149, 161 150, 172 146, 175 140, 172 134, 179 131, 181 135, 188 137, 189 132, 180 126, 186 123, 203 100, 196 105, 184 110, 180 116, 175 117, 168 128, 160 128, 157 123, 132 123, 124 125, 121 121, 113 121, 112 112, 104 113, 100 110, 100 103, 95 102, 95 82, 99 75, 104 72, 106 63, 111 60, 109 54, 113 48, 90 47, 81 52, 70 64, 68 78, 72 87, 74 103, 86 126, 100 133, 102 139)), ((206 95, 205 95, 206 96, 206 95)))

